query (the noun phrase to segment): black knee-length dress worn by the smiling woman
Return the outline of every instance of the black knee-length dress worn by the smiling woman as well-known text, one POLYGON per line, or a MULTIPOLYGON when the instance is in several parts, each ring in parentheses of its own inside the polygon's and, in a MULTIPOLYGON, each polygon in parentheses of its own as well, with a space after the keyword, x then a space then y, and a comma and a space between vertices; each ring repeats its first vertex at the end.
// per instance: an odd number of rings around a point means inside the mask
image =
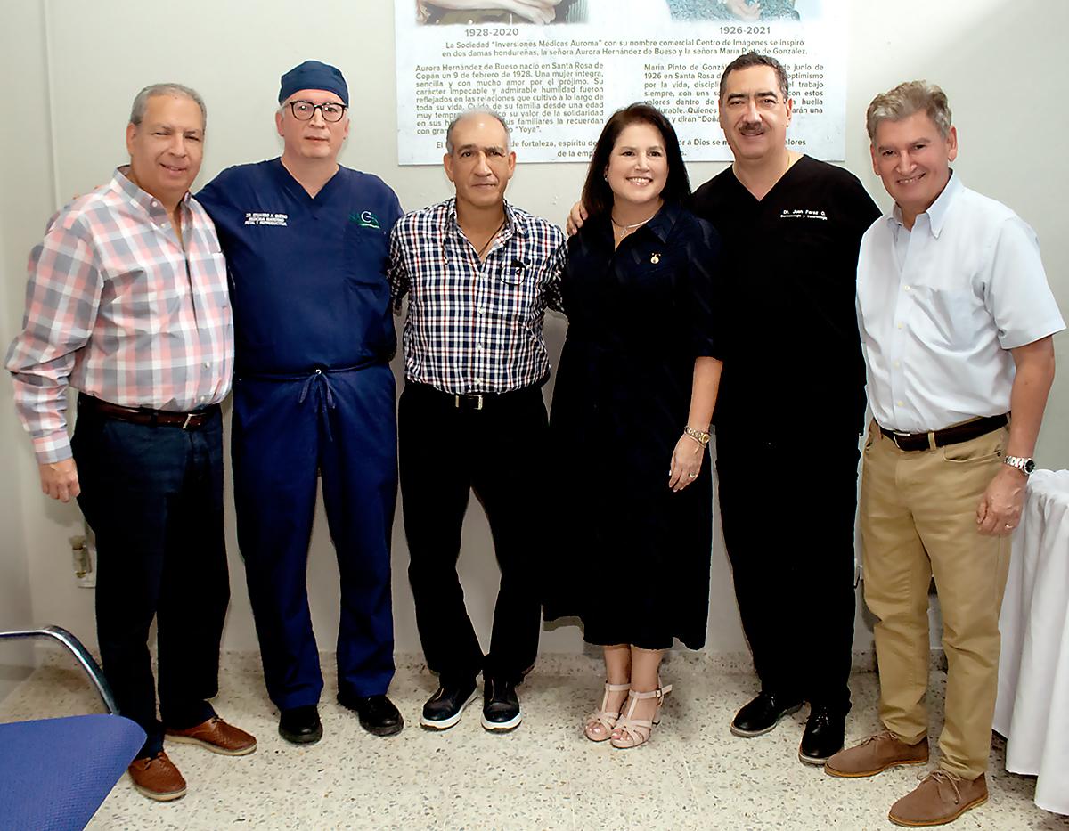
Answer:
POLYGON ((560 562, 546 618, 577 615, 594 644, 706 640, 712 547, 708 456, 673 493, 695 358, 718 357, 719 238, 665 205, 613 249, 609 218, 569 241, 568 338, 549 417, 560 562))

